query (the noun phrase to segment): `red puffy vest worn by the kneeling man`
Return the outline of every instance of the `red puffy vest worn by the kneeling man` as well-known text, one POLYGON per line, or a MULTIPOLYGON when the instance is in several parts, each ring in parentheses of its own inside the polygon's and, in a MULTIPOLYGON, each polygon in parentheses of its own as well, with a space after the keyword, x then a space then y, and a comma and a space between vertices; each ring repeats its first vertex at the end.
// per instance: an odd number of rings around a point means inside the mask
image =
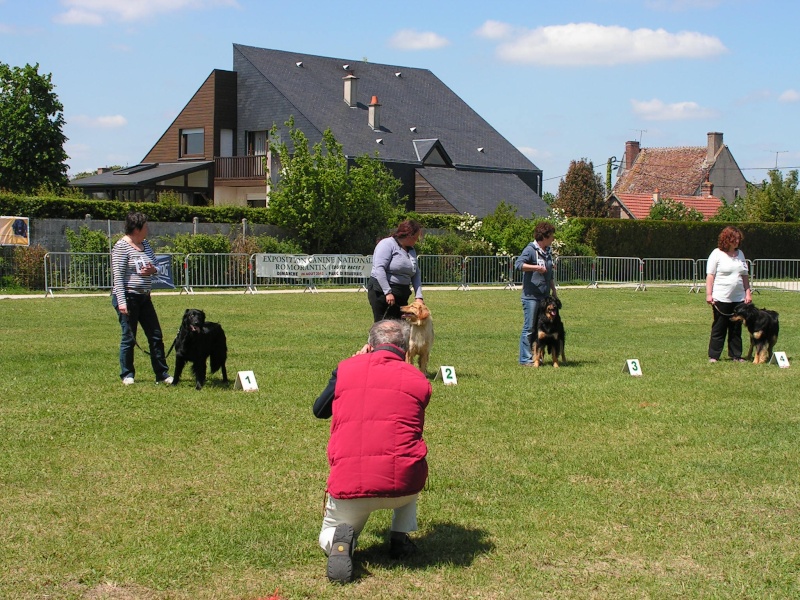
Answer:
POLYGON ((431 384, 393 352, 339 363, 328 441, 328 493, 334 498, 416 494, 428 477, 422 439, 431 384))

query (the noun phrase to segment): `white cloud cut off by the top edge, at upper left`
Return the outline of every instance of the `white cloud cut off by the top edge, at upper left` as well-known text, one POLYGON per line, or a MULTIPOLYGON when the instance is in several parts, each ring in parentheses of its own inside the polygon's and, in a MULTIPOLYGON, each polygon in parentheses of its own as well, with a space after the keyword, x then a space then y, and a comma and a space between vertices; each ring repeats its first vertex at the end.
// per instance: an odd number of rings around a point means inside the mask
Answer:
POLYGON ((63 25, 101 25, 106 18, 139 21, 183 9, 238 7, 236 0, 61 0, 67 11, 53 20, 63 25))

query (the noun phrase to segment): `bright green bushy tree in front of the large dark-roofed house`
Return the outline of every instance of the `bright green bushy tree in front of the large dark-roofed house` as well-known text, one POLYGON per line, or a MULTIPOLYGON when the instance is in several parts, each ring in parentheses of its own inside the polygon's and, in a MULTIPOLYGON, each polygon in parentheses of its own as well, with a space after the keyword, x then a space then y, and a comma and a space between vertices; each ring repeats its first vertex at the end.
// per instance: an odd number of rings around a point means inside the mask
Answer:
POLYGON ((270 144, 281 177, 270 191, 267 218, 292 231, 310 254, 371 253, 399 218, 400 181, 377 158, 364 155, 349 163, 330 129, 309 148, 294 119, 286 126, 293 152, 285 142, 270 144))

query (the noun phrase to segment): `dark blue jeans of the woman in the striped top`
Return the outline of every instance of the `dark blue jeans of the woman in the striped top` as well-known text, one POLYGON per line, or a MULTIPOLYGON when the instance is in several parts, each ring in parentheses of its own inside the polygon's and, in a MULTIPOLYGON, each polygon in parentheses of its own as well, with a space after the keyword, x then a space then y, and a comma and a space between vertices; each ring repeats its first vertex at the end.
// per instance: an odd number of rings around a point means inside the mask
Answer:
POLYGON ((150 294, 127 294, 125 300, 128 305, 127 315, 119 312, 117 297, 113 294, 111 296, 111 305, 117 311, 119 324, 122 327, 122 340, 119 344, 120 379, 134 377, 136 374, 133 351, 136 348, 136 330, 141 324, 150 345, 150 364, 156 375, 156 381, 163 381, 169 377, 169 367, 164 356, 164 336, 150 294))

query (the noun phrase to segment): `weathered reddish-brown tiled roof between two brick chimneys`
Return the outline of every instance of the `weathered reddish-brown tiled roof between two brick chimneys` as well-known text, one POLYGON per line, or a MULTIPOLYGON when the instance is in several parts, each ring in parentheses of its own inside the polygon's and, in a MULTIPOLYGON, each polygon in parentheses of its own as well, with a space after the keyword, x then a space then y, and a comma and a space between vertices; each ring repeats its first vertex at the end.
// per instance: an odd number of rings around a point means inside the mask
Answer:
POLYGON ((702 147, 642 148, 633 166, 614 184, 614 193, 693 196, 706 179, 708 149, 702 147))

